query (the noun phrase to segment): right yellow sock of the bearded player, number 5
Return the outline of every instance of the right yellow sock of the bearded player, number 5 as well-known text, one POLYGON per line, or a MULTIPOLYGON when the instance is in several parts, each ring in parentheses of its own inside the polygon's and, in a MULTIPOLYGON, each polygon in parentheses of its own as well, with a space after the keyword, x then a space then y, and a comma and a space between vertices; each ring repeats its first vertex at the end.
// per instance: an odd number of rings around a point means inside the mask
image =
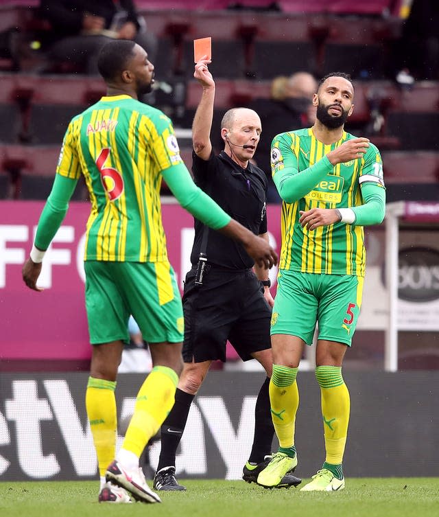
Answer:
POLYGON ((343 461, 344 447, 348 434, 351 402, 344 384, 342 367, 318 366, 316 378, 322 395, 322 416, 326 463, 338 465, 343 461))

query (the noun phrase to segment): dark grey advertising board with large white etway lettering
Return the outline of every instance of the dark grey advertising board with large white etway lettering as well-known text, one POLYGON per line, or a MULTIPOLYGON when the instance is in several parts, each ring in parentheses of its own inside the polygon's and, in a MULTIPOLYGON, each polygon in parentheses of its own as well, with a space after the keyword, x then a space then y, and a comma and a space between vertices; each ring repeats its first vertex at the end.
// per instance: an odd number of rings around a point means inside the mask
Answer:
MULTIPOLYGON (((0 375, 0 482, 95 479, 97 490, 97 459, 84 402, 87 378, 84 372, 0 375)), ((191 405, 176 456, 178 479, 241 478, 264 378, 261 372, 211 371, 191 405)), ((344 379, 352 400, 346 473, 437 476, 439 422, 432 387, 438 386, 439 372, 346 371, 344 379), (368 461, 362 461, 365 441, 368 461)), ((143 374, 118 376, 117 446, 143 380, 143 374)), ((296 474, 309 477, 324 459, 320 388, 313 371, 300 371, 298 385, 296 474)), ((277 447, 274 439, 272 450, 277 447)), ((149 479, 159 453, 158 441, 149 450, 149 479)))

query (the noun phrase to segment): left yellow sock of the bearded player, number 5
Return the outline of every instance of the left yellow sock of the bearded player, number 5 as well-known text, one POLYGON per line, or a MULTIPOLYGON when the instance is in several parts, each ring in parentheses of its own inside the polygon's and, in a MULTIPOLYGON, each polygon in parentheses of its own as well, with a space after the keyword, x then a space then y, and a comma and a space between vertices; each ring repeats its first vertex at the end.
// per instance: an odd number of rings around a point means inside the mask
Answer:
POLYGON ((294 446, 296 412, 299 405, 299 392, 296 382, 297 371, 298 368, 273 365, 270 380, 272 420, 279 446, 282 448, 294 446))

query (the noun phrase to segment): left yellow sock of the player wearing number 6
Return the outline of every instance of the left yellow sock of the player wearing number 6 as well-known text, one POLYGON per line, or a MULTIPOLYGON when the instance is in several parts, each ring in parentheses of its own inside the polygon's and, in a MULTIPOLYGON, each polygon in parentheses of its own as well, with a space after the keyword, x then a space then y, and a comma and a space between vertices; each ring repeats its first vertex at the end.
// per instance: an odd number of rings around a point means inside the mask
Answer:
POLYGON ((105 476, 108 465, 115 458, 117 412, 116 382, 88 378, 85 405, 95 444, 100 476, 105 476))

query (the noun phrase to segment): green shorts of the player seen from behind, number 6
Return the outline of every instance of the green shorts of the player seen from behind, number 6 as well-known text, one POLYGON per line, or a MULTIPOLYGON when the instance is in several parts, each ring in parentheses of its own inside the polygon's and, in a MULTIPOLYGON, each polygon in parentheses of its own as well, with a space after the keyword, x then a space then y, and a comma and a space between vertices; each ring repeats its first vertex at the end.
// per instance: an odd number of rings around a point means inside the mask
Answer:
POLYGON ((169 262, 87 260, 85 301, 90 343, 129 342, 134 317, 148 343, 183 341, 180 292, 169 262))

